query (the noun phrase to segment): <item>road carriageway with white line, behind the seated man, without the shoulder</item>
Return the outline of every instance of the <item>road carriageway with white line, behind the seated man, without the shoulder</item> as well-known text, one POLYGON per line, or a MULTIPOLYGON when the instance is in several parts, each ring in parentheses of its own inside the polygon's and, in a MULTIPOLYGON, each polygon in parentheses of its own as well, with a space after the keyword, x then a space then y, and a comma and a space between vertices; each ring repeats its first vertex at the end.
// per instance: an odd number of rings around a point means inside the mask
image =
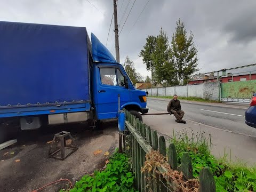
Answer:
MULTIPOLYGON (((166 111, 169 101, 148 99, 147 106, 151 110, 166 111)), ((185 111, 184 119, 197 123, 217 127, 221 130, 251 135, 256 137, 256 129, 244 123, 244 112, 247 106, 222 105, 221 103, 193 103, 182 102, 181 108, 185 111)))

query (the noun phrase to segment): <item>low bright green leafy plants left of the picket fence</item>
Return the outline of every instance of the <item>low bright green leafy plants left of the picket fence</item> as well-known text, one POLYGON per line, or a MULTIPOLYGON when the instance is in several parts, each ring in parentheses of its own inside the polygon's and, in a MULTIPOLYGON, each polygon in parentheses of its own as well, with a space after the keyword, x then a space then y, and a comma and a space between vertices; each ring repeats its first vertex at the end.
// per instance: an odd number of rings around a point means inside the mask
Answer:
MULTIPOLYGON (((134 176, 129 164, 129 158, 125 154, 114 153, 109 159, 107 167, 103 171, 95 171, 93 175, 84 175, 75 183, 69 192, 85 191, 136 191, 134 176)), ((63 192, 63 190, 61 190, 63 192)), ((60 191, 60 192, 61 192, 60 191)))

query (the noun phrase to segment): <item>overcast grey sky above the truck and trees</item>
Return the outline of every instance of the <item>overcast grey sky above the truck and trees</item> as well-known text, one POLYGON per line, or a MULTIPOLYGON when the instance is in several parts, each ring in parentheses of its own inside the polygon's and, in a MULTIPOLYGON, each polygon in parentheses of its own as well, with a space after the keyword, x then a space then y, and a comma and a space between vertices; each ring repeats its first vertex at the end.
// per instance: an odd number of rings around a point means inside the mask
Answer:
MULTIPOLYGON (((86 27, 103 44, 107 42, 113 14, 113 0, 0 0, 0 20, 86 27)), ((118 25, 121 31, 134 0, 118 0, 118 25), (129 3, 130 2, 130 3, 129 3), (123 5, 122 5, 123 4, 123 5), (127 9, 126 9, 127 7, 127 9), (126 10, 126 12, 125 12, 126 10)), ((187 31, 195 35, 198 67, 201 73, 256 63, 256 1, 172 1, 137 0, 119 35, 121 63, 126 55, 137 71, 150 73, 138 56, 148 35, 157 35, 161 27, 171 39, 180 18, 187 31)), ((107 47, 114 50, 114 19, 107 47)), ((256 67, 247 68, 256 70, 256 67)))

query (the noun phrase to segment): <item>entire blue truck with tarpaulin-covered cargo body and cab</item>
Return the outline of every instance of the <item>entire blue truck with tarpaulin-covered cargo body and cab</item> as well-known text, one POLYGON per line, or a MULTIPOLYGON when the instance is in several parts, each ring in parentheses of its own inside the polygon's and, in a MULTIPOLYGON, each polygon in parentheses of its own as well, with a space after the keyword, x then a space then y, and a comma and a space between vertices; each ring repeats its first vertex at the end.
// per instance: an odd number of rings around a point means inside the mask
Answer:
POLYGON ((148 112, 146 93, 85 27, 0 21, 0 70, 0 143, 14 127, 117 118, 118 94, 121 109, 141 121, 148 112))

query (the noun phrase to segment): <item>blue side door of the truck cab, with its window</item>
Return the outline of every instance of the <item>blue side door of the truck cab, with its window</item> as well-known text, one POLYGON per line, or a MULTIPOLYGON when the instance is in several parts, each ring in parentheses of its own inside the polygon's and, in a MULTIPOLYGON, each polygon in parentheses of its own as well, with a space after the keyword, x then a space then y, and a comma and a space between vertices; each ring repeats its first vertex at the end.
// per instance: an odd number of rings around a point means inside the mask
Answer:
POLYGON ((98 66, 96 111, 99 119, 118 117, 118 94, 122 106, 130 102, 130 90, 125 87, 124 73, 118 66, 98 66))

